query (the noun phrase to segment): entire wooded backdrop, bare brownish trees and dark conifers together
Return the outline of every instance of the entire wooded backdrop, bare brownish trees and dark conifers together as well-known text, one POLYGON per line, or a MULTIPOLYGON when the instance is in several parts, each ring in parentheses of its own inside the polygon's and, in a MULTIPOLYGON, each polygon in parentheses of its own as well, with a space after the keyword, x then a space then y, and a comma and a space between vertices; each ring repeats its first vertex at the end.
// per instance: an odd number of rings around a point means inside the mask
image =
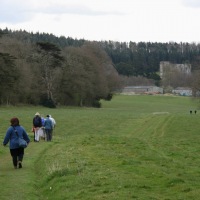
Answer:
MULTIPOLYGON (((124 85, 168 87, 160 61, 192 64, 197 84, 200 44, 86 41, 0 29, 0 103, 100 107, 124 85)), ((170 83, 193 84, 183 76, 170 83)))

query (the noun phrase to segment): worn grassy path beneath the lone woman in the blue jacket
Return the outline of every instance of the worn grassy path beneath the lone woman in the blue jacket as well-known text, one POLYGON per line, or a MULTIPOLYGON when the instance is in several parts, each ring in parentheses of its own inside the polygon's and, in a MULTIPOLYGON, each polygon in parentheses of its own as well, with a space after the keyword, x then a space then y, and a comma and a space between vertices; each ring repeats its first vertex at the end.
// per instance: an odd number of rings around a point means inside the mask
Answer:
POLYGON ((36 191, 36 180, 38 181, 34 163, 48 144, 44 141, 31 142, 25 149, 23 168, 14 169, 10 156, 9 147, 0 156, 0 199, 1 200, 35 200, 39 199, 36 191))

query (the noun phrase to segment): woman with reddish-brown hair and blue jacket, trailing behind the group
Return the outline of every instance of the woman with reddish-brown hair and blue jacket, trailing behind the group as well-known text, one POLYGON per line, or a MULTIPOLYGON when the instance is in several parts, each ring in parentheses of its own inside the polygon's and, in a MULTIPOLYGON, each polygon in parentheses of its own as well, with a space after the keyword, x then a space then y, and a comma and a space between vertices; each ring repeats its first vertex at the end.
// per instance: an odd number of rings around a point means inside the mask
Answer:
POLYGON ((24 148, 19 147, 18 143, 18 137, 23 138, 26 140, 27 143, 30 142, 30 139, 28 137, 28 134, 26 133, 25 129, 19 125, 19 119, 14 117, 10 120, 11 126, 8 128, 3 145, 6 146, 8 142, 10 142, 10 154, 12 156, 12 161, 14 168, 17 169, 17 166, 19 168, 22 168, 22 160, 24 157, 24 148), (18 133, 15 133, 15 130, 18 133))

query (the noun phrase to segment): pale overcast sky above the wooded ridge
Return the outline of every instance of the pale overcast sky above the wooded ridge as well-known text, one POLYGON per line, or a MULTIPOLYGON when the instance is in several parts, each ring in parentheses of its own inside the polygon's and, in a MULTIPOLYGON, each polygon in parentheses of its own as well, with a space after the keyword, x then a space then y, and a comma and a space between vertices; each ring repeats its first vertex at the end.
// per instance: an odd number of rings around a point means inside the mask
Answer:
POLYGON ((0 0, 0 28, 119 42, 200 42, 200 0, 0 0))

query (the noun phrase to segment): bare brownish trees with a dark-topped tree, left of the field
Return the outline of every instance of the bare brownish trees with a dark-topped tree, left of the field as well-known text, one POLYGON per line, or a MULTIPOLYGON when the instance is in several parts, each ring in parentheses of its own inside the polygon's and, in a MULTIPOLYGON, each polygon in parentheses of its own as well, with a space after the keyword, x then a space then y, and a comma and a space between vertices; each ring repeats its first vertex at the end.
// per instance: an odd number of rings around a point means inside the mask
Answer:
POLYGON ((0 35, 1 104, 100 107, 100 100, 110 100, 119 87, 119 75, 98 43, 61 48, 31 41, 23 31, 0 35))

